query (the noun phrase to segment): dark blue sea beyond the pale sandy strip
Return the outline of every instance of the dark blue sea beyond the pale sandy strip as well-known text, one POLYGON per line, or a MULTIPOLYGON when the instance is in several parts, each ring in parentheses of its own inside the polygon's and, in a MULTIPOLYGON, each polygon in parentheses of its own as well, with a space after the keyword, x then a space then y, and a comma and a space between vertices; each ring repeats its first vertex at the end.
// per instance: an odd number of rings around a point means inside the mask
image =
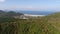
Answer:
POLYGON ((34 15, 48 15, 54 13, 52 11, 18 11, 18 12, 23 14, 34 14, 34 15))

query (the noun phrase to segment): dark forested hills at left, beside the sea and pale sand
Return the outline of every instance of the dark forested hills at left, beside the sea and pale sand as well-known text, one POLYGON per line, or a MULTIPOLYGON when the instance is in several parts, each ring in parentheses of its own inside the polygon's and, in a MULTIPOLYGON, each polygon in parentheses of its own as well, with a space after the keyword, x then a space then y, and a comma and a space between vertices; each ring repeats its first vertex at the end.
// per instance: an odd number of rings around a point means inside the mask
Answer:
POLYGON ((0 17, 13 17, 13 16, 20 16, 23 15, 22 13, 14 12, 14 11, 3 11, 0 10, 0 17))

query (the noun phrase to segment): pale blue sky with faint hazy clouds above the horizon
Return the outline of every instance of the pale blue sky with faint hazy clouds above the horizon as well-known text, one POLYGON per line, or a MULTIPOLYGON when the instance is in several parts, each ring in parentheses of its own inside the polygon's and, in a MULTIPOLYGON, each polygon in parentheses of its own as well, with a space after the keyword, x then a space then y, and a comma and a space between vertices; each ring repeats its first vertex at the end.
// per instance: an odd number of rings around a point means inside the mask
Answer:
POLYGON ((0 10, 60 11, 60 0, 0 0, 0 10))

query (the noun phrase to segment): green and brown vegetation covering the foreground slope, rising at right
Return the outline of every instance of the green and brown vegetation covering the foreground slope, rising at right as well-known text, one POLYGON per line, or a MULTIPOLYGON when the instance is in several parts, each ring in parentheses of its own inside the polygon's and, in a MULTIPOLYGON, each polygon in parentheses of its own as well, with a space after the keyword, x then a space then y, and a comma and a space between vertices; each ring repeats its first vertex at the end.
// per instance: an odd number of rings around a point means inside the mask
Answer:
POLYGON ((0 34, 60 34, 59 14, 39 19, 0 17, 0 34))

